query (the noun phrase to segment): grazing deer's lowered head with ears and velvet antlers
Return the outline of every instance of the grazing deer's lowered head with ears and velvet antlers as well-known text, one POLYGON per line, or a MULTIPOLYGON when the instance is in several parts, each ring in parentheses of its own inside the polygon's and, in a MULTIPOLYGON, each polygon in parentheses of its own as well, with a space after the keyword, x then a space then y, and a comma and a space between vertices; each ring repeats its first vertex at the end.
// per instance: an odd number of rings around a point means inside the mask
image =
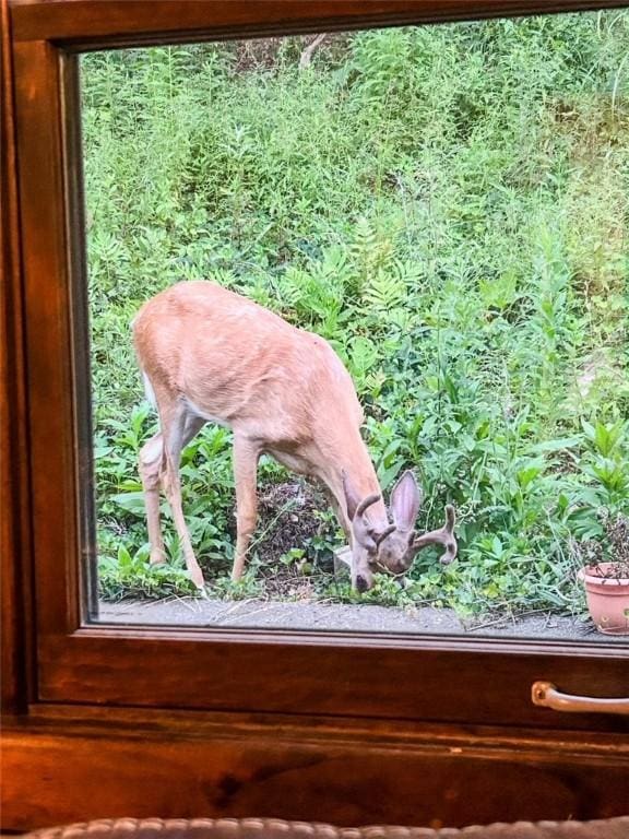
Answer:
POLYGON ((347 478, 344 488, 353 533, 352 583, 358 591, 368 591, 373 586, 373 574, 377 571, 395 576, 405 574, 417 552, 428 545, 443 546, 440 558, 443 565, 449 565, 456 556, 452 506, 446 507, 442 528, 422 534, 415 531, 422 493, 411 471, 404 472, 391 492, 391 524, 377 524, 369 518, 369 508, 380 500, 379 495, 359 500, 347 478))

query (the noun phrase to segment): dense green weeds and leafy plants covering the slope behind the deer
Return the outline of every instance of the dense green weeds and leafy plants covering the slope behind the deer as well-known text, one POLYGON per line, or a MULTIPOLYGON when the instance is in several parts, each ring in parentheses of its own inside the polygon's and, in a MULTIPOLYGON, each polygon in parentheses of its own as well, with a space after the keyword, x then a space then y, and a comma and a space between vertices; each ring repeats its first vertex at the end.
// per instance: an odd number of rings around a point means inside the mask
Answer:
POLYGON ((420 525, 452 501, 461 545, 358 598, 325 504, 280 493, 234 587, 229 434, 206 427, 183 505, 216 595, 580 611, 577 543, 605 552, 629 512, 629 13, 334 36, 300 70, 302 47, 82 59, 102 592, 189 590, 171 527, 173 566, 145 564, 129 323, 213 279, 334 345, 383 487, 415 469, 420 525))

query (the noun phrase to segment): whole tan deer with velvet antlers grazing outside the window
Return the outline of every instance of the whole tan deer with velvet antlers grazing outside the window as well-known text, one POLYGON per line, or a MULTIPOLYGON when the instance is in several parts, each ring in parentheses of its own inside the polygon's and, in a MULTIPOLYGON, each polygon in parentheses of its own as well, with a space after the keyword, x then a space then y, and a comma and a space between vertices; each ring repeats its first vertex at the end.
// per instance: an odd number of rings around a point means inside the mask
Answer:
POLYGON ((181 450, 206 423, 233 432, 234 581, 242 576, 256 530, 262 454, 322 484, 349 544, 356 591, 371 589, 377 571, 403 576, 427 545, 443 547, 443 564, 454 559, 452 506, 442 528, 415 531, 422 493, 411 470, 394 485, 387 510, 360 435, 364 413, 354 382, 323 338, 207 281, 183 281, 156 294, 137 314, 132 333, 159 426, 139 454, 151 564, 166 562, 163 489, 189 577, 204 590, 182 512, 179 464, 181 450))

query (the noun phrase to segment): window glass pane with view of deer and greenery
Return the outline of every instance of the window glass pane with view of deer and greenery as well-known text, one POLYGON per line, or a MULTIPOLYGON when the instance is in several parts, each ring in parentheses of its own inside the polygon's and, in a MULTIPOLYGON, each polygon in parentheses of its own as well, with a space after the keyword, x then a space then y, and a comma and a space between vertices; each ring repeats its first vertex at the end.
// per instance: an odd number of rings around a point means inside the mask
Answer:
POLYGON ((620 639, 578 571, 612 563, 626 628, 628 37, 614 11, 82 57, 100 621, 620 639), (145 398, 130 324, 167 288, 145 398), (368 454, 336 356, 268 311, 341 358, 368 454), (355 513, 354 580, 295 469, 355 513))

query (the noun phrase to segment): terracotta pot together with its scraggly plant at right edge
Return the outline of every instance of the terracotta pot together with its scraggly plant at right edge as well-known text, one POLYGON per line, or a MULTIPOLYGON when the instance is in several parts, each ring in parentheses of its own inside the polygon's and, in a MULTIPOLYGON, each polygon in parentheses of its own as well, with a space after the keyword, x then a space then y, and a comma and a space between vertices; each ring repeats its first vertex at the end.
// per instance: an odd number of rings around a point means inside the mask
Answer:
POLYGON ((578 577, 585 586, 588 608, 598 631, 629 635, 629 519, 606 516, 604 527, 609 559, 603 559, 600 543, 581 543, 577 553, 585 565, 578 577))

